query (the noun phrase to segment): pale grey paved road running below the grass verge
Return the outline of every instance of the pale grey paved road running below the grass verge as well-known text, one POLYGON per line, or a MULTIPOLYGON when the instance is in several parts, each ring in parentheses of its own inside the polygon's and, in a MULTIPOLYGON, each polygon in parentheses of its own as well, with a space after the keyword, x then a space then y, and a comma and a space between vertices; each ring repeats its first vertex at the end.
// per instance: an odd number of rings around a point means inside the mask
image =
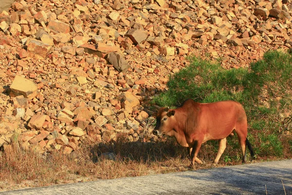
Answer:
POLYGON ((285 192, 292 195, 292 159, 30 188, 0 195, 285 195, 285 192))

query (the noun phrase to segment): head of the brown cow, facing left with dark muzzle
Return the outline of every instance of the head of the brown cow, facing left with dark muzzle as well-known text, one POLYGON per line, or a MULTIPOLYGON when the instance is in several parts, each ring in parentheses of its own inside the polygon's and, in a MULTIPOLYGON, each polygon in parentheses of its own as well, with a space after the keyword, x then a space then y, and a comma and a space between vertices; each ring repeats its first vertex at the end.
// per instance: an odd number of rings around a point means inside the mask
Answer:
POLYGON ((169 108, 159 109, 156 117, 156 127, 153 130, 154 136, 161 136, 162 134, 173 136, 175 110, 169 108))

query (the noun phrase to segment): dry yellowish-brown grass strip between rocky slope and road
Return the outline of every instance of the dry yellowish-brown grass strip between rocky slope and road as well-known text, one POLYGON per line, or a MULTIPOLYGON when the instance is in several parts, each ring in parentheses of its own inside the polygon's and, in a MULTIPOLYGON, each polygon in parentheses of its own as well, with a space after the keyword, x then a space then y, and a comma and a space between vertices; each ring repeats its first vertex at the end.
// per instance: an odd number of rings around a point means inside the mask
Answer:
MULTIPOLYGON (((161 137, 158 143, 142 143, 128 142, 125 137, 120 134, 116 141, 108 144, 87 141, 70 155, 58 151, 39 155, 21 149, 18 141, 14 141, 11 147, 0 152, 0 191, 188 170, 190 160, 186 149, 174 138, 161 137), (115 161, 100 159, 100 154, 105 152, 114 153, 115 161)), ((201 147, 199 158, 209 164, 197 165, 195 169, 212 167, 216 143, 210 142, 201 147)), ((240 153, 239 149, 230 147, 228 149, 227 146, 219 166, 241 163, 241 156, 238 160, 226 160, 224 156, 240 153)))

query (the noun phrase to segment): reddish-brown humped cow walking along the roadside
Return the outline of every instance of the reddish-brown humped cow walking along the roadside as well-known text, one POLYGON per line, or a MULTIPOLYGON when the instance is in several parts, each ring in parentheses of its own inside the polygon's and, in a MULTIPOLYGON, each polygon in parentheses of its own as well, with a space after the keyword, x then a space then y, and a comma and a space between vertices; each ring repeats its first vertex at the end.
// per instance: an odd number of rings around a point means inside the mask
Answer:
POLYGON ((247 117, 242 106, 235 101, 198 103, 187 99, 176 109, 161 108, 156 117, 153 135, 174 136, 179 144, 188 148, 191 165, 195 161, 204 164, 197 155, 201 144, 208 140, 219 140, 218 154, 214 164, 226 148, 226 137, 237 133, 242 150, 242 162, 246 162, 246 146, 254 158, 254 151, 247 139, 247 117))

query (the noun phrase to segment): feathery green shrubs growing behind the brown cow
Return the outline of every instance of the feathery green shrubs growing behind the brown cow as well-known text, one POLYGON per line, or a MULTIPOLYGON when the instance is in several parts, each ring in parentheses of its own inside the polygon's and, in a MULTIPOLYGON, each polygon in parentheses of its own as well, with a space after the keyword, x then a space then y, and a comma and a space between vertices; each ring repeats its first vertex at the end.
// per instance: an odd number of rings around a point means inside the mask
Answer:
MULTIPOLYGON (((170 76, 168 90, 153 98, 159 106, 179 106, 185 99, 197 102, 235 100, 247 113, 251 140, 259 155, 282 155, 279 140, 284 109, 292 109, 292 56, 269 51, 250 68, 223 69, 219 63, 190 58, 191 64, 170 76), (263 131, 265 134, 258 133, 263 131), (270 142, 268 142, 268 140, 270 142)), ((234 157, 232 157, 234 158, 234 157)))

